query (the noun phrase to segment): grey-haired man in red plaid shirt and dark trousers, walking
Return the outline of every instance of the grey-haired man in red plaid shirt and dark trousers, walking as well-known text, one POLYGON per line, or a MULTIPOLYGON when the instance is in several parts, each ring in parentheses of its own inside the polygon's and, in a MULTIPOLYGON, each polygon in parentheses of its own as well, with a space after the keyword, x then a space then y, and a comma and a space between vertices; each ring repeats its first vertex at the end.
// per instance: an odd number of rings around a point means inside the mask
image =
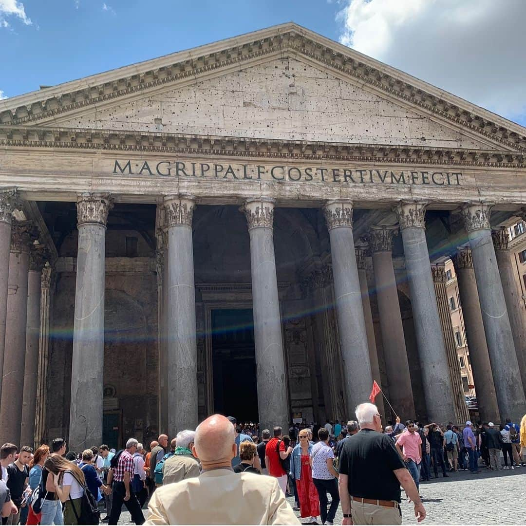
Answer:
POLYGON ((126 442, 126 449, 120 453, 117 466, 110 469, 108 473, 108 485, 113 490, 112 513, 108 524, 117 524, 122 510, 123 503, 131 514, 131 520, 135 524, 144 523, 143 510, 137 495, 131 491, 131 478, 133 477, 133 454, 137 451, 137 440, 130 438, 126 442))

